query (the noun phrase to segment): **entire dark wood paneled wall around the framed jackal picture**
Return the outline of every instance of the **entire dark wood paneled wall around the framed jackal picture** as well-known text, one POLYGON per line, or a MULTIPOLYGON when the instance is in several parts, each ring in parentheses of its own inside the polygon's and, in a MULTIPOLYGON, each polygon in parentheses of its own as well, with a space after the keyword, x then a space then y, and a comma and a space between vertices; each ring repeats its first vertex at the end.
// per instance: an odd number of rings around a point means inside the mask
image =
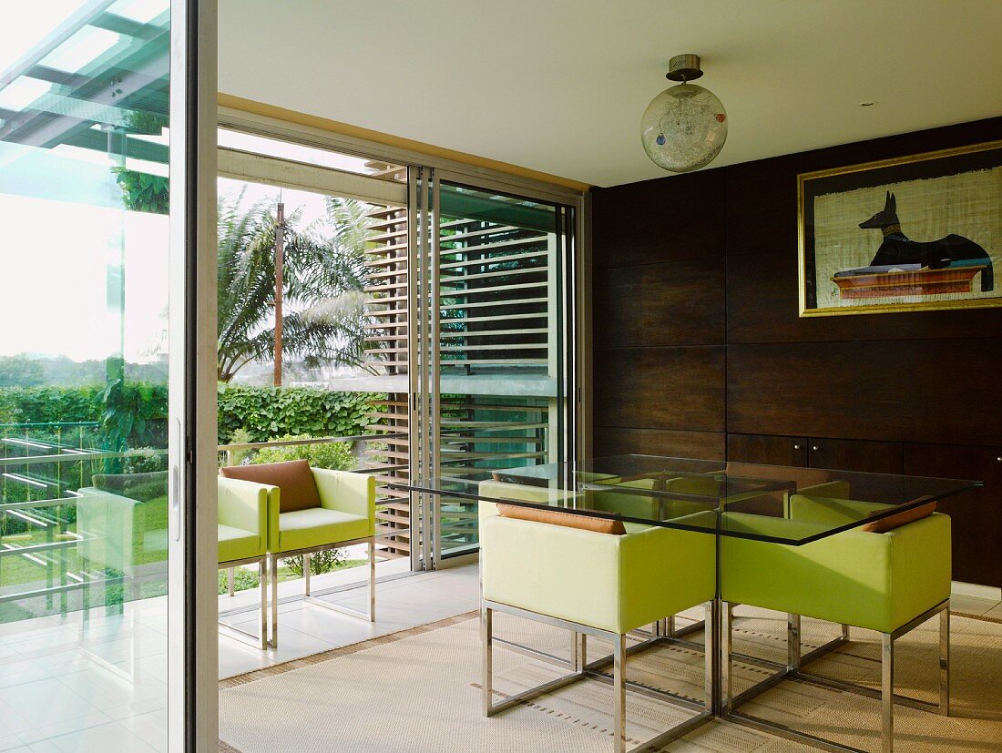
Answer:
POLYGON ((797 271, 798 173, 999 138, 993 118, 594 189, 595 454, 978 478, 947 505, 955 578, 1002 586, 1002 308, 801 318, 797 271))

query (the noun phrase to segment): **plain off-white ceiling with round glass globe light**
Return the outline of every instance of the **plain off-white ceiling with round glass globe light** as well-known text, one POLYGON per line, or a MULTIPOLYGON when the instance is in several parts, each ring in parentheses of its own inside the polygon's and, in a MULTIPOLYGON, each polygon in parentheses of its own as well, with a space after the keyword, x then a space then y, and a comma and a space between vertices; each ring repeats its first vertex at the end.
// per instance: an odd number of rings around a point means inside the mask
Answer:
POLYGON ((218 3, 221 92, 595 185, 670 174, 639 120, 682 52, 710 167, 1002 115, 1000 0, 218 3))

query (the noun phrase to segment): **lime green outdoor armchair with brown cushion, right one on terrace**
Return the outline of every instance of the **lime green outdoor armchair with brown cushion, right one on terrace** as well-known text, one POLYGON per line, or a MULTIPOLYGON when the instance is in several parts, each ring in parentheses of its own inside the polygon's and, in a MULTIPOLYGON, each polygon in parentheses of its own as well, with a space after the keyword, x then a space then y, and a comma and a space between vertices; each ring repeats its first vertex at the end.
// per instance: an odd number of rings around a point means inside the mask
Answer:
POLYGON ((219 473, 267 488, 268 570, 272 576, 270 645, 279 642, 279 560, 303 556, 305 598, 370 622, 376 620, 376 479, 369 474, 312 469, 306 461, 230 466, 219 473), (313 599, 311 555, 356 544, 369 546, 369 610, 357 612, 313 599))

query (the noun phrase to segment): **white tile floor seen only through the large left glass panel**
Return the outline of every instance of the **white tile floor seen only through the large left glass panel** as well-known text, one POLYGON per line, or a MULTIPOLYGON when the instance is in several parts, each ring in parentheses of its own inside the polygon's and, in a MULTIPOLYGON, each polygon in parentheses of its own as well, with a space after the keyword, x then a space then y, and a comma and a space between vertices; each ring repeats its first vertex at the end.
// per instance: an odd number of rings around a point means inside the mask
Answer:
POLYGON ((165 724, 166 600, 0 626, 0 751, 156 751, 165 724))

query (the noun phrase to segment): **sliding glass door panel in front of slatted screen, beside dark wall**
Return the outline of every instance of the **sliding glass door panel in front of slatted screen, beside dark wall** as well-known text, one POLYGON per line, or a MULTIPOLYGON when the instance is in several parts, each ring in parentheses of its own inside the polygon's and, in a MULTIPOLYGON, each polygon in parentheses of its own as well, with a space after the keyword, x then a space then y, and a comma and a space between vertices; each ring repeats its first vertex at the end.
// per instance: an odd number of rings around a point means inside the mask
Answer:
MULTIPOLYGON (((574 447, 573 208, 427 168, 413 193, 420 473, 481 478, 565 461, 574 447)), ((426 568, 476 552, 475 502, 417 504, 426 568)))

